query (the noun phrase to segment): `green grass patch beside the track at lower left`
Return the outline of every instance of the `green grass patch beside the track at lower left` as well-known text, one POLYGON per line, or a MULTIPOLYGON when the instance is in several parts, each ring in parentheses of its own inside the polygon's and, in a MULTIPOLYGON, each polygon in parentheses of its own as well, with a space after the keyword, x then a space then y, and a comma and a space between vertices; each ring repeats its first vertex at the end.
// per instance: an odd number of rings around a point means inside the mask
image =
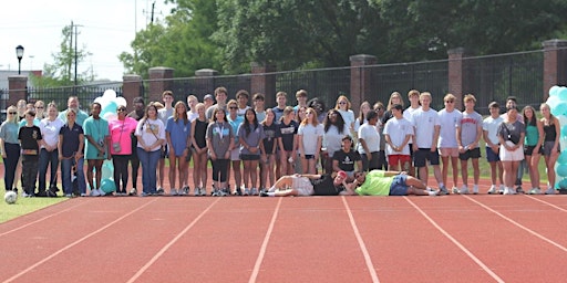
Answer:
MULTIPOLYGON (((2 184, 0 187, 0 191, 4 191, 4 185, 2 184)), ((0 202, 0 223, 65 200, 66 198, 21 198, 18 196, 16 203, 8 205, 3 200, 2 193, 2 201, 0 202)))

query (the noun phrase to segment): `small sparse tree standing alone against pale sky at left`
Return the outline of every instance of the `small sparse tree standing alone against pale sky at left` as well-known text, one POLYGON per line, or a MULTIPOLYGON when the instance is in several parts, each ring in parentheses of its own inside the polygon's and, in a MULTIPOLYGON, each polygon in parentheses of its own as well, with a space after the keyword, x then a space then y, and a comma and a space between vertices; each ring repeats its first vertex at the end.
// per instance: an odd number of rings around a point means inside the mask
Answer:
MULTIPOLYGON (((85 46, 76 50, 75 62, 75 48, 71 42, 72 33, 72 25, 66 25, 63 28, 60 52, 51 54, 53 57, 53 63, 45 63, 43 65, 42 76, 31 76, 33 85, 39 87, 55 87, 74 84, 74 63, 80 64, 80 62, 84 61, 84 59, 91 55, 91 53, 86 51, 85 46)), ((92 72, 90 69, 82 73, 78 73, 78 84, 93 81, 94 77, 91 73, 92 72)))

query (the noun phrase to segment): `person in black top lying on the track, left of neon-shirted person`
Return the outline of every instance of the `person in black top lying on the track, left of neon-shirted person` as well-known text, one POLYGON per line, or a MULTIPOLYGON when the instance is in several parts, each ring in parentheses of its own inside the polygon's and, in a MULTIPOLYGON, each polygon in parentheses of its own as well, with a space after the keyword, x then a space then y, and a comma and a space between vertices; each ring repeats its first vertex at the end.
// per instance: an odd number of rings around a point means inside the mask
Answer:
POLYGON ((295 174, 282 176, 268 191, 260 197, 296 197, 296 196, 338 196, 346 195, 347 172, 331 175, 295 174))

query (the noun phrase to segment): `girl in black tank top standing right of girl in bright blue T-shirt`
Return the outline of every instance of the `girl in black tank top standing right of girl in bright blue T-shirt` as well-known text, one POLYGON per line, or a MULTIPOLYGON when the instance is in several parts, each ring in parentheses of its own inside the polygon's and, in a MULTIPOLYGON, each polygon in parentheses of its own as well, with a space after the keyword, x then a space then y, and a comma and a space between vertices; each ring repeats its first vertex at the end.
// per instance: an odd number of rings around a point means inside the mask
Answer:
POLYGON ((207 117, 205 115, 205 104, 198 103, 197 118, 190 123, 190 135, 193 137, 193 186, 195 196, 207 195, 207 117))

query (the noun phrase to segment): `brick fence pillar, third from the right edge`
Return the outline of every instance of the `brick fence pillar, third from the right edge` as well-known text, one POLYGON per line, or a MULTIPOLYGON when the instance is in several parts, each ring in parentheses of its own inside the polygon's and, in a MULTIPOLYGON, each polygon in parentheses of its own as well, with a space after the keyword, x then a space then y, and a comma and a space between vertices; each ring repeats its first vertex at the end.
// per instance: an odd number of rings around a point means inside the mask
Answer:
POLYGON ((359 106, 372 96, 372 69, 368 65, 375 65, 378 60, 375 56, 367 54, 352 55, 350 59, 350 102, 354 115, 358 115, 359 106))

